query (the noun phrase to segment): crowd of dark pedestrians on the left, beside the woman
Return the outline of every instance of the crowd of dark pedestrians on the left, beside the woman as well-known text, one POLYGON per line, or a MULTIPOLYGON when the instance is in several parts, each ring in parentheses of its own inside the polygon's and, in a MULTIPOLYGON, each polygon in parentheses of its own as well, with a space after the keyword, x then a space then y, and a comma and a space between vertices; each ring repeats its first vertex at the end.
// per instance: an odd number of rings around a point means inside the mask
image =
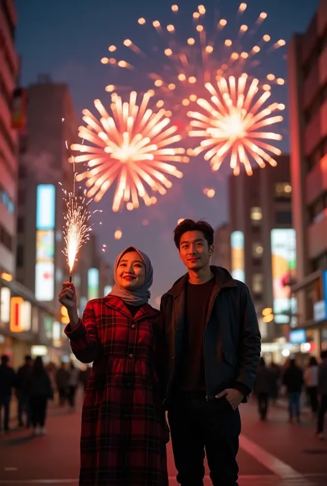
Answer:
POLYGON ((32 429, 32 434, 46 434, 46 412, 48 401, 58 397, 59 407, 69 405, 75 409, 76 392, 81 385, 85 392, 90 368, 79 369, 74 363, 43 363, 41 356, 25 362, 17 372, 10 366, 10 358, 1 356, 0 365, 0 432, 10 432, 12 407, 17 403, 17 425, 32 429), (17 400, 12 400, 13 396, 17 400))

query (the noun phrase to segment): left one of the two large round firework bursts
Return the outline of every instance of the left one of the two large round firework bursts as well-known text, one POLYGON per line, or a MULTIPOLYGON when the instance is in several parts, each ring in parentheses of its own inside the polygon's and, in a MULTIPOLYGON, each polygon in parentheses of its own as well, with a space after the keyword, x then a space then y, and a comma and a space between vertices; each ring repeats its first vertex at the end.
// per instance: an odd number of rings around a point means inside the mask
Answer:
POLYGON ((99 100, 95 100, 101 119, 83 110, 87 126, 79 127, 79 136, 92 145, 74 144, 72 150, 82 155, 70 159, 74 163, 88 163, 88 170, 77 175, 77 181, 87 179, 88 197, 100 201, 115 183, 117 186, 112 210, 117 212, 123 203, 128 210, 139 207, 139 198, 146 205, 157 201, 146 190, 165 194, 172 183, 166 176, 181 178, 174 162, 188 162, 184 148, 173 148, 181 136, 170 125, 166 110, 154 112, 148 108, 150 94, 146 93, 137 105, 137 93, 130 93, 129 102, 112 95, 111 115, 99 100))

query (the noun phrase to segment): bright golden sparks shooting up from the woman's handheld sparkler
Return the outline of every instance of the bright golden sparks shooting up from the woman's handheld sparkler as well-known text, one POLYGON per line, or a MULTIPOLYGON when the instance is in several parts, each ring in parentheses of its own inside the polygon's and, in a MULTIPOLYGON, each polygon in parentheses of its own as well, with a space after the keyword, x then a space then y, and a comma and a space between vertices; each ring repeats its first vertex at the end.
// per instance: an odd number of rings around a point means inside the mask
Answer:
POLYGON ((82 245, 88 241, 92 230, 92 225, 89 223, 90 217, 96 212, 91 213, 88 210, 88 205, 92 200, 86 201, 85 196, 85 192, 83 196, 76 196, 72 192, 63 190, 63 200, 66 203, 65 224, 63 226, 63 254, 67 258, 70 280, 77 254, 81 250, 82 245))

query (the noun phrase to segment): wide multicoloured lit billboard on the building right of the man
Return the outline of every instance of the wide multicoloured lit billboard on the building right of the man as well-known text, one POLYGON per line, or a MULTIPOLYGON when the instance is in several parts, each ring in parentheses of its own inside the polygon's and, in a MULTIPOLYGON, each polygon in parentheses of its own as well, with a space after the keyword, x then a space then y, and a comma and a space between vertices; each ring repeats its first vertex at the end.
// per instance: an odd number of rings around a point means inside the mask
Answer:
POLYGON ((286 281, 294 280, 297 268, 296 239, 293 228, 271 230, 271 263, 275 322, 288 324, 297 312, 297 300, 290 298, 286 281))

